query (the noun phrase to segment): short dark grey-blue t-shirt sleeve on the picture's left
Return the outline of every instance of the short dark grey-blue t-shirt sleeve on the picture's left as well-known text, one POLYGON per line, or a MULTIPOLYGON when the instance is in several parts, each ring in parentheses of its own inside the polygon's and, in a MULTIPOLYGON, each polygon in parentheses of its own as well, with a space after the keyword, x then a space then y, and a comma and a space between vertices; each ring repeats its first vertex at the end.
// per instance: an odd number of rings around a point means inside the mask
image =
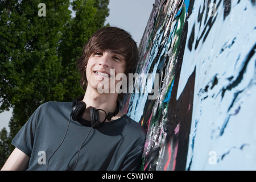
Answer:
POLYGON ((36 127, 43 115, 44 105, 38 107, 35 112, 31 115, 25 125, 18 131, 18 133, 13 138, 11 144, 24 152, 27 156, 31 156, 34 136, 36 132, 36 127))

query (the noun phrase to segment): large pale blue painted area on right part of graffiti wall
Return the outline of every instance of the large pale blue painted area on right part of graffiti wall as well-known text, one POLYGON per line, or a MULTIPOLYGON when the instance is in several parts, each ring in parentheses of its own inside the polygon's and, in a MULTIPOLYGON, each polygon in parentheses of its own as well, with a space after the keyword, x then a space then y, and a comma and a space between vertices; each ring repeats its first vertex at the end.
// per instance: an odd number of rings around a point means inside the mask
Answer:
MULTIPOLYGON (((195 40, 204 30, 197 22, 200 7, 203 1, 195 1, 187 43, 193 24, 195 40)), ((224 19, 221 5, 205 42, 185 48, 177 98, 196 67, 187 169, 256 169, 255 10, 250 1, 232 1, 224 19), (208 163, 209 151, 216 151, 216 165, 208 163)))

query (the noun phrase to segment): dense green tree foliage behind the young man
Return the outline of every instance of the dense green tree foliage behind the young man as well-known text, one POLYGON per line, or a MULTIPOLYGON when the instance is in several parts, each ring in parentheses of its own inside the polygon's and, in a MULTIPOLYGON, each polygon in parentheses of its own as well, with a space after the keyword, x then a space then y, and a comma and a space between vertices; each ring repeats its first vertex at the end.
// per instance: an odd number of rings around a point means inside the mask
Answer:
POLYGON ((84 93, 76 59, 109 15, 109 0, 45 0, 46 16, 38 16, 39 3, 0 0, 0 112, 14 108, 9 137, 0 133, 1 156, 39 105, 84 93))

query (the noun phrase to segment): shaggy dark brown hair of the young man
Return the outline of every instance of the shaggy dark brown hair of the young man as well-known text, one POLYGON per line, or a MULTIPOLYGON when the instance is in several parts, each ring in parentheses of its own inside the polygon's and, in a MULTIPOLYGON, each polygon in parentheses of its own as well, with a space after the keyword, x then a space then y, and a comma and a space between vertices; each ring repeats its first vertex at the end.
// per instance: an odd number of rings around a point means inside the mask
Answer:
MULTIPOLYGON (((104 27, 97 30, 90 37, 83 48, 82 56, 77 60, 77 68, 81 74, 80 85, 84 90, 86 90, 88 84, 86 66, 90 56, 97 51, 106 49, 117 50, 125 56, 125 75, 127 79, 129 73, 135 73, 138 63, 138 47, 131 35, 121 28, 104 27)), ((129 80, 127 80, 128 82, 129 80)))

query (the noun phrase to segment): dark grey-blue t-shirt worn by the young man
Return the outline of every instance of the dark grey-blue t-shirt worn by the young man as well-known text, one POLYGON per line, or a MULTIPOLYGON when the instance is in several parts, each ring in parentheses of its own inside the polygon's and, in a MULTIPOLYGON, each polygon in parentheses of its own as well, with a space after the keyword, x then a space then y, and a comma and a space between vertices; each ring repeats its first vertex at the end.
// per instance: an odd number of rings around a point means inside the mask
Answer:
POLYGON ((139 123, 127 115, 92 129, 84 145, 90 122, 71 118, 67 135, 56 151, 71 111, 72 102, 47 102, 36 109, 13 138, 12 144, 30 156, 28 170, 46 170, 47 166, 49 170, 71 170, 75 165, 74 170, 80 171, 139 170, 146 135, 139 123))

